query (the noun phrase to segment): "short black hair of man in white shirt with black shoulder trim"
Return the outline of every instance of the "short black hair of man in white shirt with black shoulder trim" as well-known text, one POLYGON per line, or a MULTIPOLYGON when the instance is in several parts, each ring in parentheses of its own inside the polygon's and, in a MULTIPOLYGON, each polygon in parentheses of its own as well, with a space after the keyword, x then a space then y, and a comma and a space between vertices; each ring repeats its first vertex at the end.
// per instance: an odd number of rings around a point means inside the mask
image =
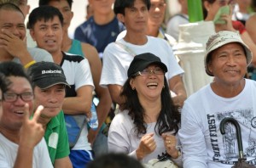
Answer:
POLYGON ((34 8, 31 14, 29 14, 27 28, 33 29, 38 20, 53 20, 55 16, 59 18, 61 21, 61 26, 63 26, 63 16, 58 8, 48 5, 34 8))

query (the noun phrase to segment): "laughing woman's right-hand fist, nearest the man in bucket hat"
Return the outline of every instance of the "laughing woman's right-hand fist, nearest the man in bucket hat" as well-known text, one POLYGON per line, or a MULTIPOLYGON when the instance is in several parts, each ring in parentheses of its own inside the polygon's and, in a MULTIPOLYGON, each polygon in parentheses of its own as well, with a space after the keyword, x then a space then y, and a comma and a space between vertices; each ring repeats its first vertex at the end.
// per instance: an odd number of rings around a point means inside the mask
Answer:
POLYGON ((162 137, 164 139, 164 144, 166 147, 166 152, 169 154, 173 159, 178 158, 178 150, 176 148, 176 137, 173 135, 168 135, 166 133, 162 134, 162 137))

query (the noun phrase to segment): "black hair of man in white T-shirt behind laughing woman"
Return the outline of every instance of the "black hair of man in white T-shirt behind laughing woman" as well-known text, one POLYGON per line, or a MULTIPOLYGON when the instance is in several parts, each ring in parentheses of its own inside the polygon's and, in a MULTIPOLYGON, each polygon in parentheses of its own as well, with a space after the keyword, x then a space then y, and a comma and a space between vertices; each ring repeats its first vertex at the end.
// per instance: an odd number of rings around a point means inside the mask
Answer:
MULTIPOLYGON (((114 14, 124 14, 125 8, 131 8, 134 6, 136 0, 115 0, 113 4, 113 12, 114 14)), ((143 3, 146 4, 148 10, 151 6, 150 0, 143 0, 143 3)))

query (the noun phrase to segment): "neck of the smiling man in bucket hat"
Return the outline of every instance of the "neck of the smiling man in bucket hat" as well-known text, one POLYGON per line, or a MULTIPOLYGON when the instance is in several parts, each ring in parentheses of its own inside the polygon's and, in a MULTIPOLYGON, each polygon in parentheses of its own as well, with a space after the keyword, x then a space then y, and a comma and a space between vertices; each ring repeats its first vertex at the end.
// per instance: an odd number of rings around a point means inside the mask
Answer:
POLYGON ((235 85, 227 85, 222 82, 213 81, 211 83, 212 91, 223 98, 236 97, 245 87, 245 79, 237 82, 235 85))

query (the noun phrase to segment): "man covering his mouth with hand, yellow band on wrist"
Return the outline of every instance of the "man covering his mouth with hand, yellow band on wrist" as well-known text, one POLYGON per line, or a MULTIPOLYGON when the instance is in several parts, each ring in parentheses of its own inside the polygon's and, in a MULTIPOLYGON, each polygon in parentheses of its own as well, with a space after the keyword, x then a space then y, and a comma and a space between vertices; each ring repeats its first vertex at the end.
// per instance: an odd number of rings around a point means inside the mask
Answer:
POLYGON ((14 3, 2 1, 0 0, 0 62, 14 60, 26 68, 36 61, 53 62, 51 55, 44 49, 26 48, 25 16, 14 3))

